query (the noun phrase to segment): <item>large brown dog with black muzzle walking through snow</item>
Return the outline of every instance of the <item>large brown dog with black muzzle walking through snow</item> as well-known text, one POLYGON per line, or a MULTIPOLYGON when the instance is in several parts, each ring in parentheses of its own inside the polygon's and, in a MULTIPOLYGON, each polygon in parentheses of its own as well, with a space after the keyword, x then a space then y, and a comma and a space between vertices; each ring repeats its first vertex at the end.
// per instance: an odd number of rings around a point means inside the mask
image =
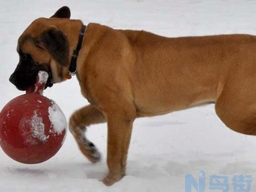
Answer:
MULTIPOLYGON (((68 7, 36 19, 19 38, 20 62, 10 81, 25 90, 38 70, 48 86, 65 81, 81 20, 68 7)), ((91 105, 70 118, 70 131, 91 162, 100 155, 85 127, 107 122, 107 164, 112 185, 125 174, 135 118, 215 102, 230 129, 256 134, 256 38, 251 35, 166 38, 146 31, 116 30, 89 23, 76 62, 76 76, 91 105)))

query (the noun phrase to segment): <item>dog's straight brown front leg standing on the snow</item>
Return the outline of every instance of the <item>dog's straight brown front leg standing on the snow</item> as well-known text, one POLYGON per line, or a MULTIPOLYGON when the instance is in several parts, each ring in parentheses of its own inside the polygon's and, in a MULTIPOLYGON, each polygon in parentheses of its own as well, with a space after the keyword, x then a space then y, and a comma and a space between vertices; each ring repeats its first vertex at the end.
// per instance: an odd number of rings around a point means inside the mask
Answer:
POLYGON ((132 124, 136 116, 133 105, 122 105, 106 113, 108 122, 107 164, 109 173, 103 179, 110 186, 125 174, 127 152, 132 133, 132 124))

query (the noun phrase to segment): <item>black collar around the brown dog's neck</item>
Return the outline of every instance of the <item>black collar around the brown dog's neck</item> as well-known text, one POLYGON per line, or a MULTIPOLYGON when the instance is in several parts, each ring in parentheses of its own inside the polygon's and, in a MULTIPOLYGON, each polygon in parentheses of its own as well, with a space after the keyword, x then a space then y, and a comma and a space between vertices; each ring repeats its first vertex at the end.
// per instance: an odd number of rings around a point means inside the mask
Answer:
POLYGON ((79 51, 80 51, 82 43, 83 43, 85 28, 86 28, 86 26, 82 24, 82 27, 81 27, 81 30, 79 33, 78 43, 77 43, 76 49, 73 52, 73 55, 72 55, 72 58, 70 61, 70 66, 68 69, 70 75, 76 74, 76 60, 77 60, 79 51))

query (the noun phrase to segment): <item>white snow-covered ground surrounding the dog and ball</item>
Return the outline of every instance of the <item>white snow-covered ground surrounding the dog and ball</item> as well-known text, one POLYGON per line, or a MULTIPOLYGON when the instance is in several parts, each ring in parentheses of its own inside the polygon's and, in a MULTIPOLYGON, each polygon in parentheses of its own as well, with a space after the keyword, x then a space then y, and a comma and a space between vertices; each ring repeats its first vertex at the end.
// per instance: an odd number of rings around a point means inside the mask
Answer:
MULTIPOLYGON (((82 19, 85 24, 99 22, 164 36, 256 34, 256 2, 249 0, 1 0, 0 108, 22 94, 8 81, 18 63, 15 49, 19 35, 31 21, 50 17, 63 5, 70 7, 72 18, 82 19)), ((67 118, 87 105, 76 78, 54 85, 45 95, 59 104, 67 118)), ((0 191, 180 192, 185 191, 185 175, 191 173, 198 178, 201 170, 206 173, 205 191, 212 191, 211 174, 227 175, 229 191, 233 191, 233 175, 251 174, 251 191, 256 190, 256 137, 229 130, 215 115, 214 105, 137 119, 127 176, 111 187, 100 181, 107 172, 106 136, 106 124, 88 129, 88 137, 103 154, 98 164, 84 158, 70 133, 59 153, 42 164, 17 163, 0 150, 0 191)))

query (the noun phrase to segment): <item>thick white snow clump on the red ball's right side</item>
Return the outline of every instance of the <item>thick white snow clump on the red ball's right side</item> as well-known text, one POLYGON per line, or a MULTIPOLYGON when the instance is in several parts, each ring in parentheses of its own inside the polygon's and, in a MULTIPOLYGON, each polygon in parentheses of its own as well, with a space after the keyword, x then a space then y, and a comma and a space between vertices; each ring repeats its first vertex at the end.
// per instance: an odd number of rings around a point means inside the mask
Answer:
POLYGON ((54 101, 52 101, 52 105, 48 108, 48 113, 54 133, 59 135, 67 129, 66 117, 54 101))

